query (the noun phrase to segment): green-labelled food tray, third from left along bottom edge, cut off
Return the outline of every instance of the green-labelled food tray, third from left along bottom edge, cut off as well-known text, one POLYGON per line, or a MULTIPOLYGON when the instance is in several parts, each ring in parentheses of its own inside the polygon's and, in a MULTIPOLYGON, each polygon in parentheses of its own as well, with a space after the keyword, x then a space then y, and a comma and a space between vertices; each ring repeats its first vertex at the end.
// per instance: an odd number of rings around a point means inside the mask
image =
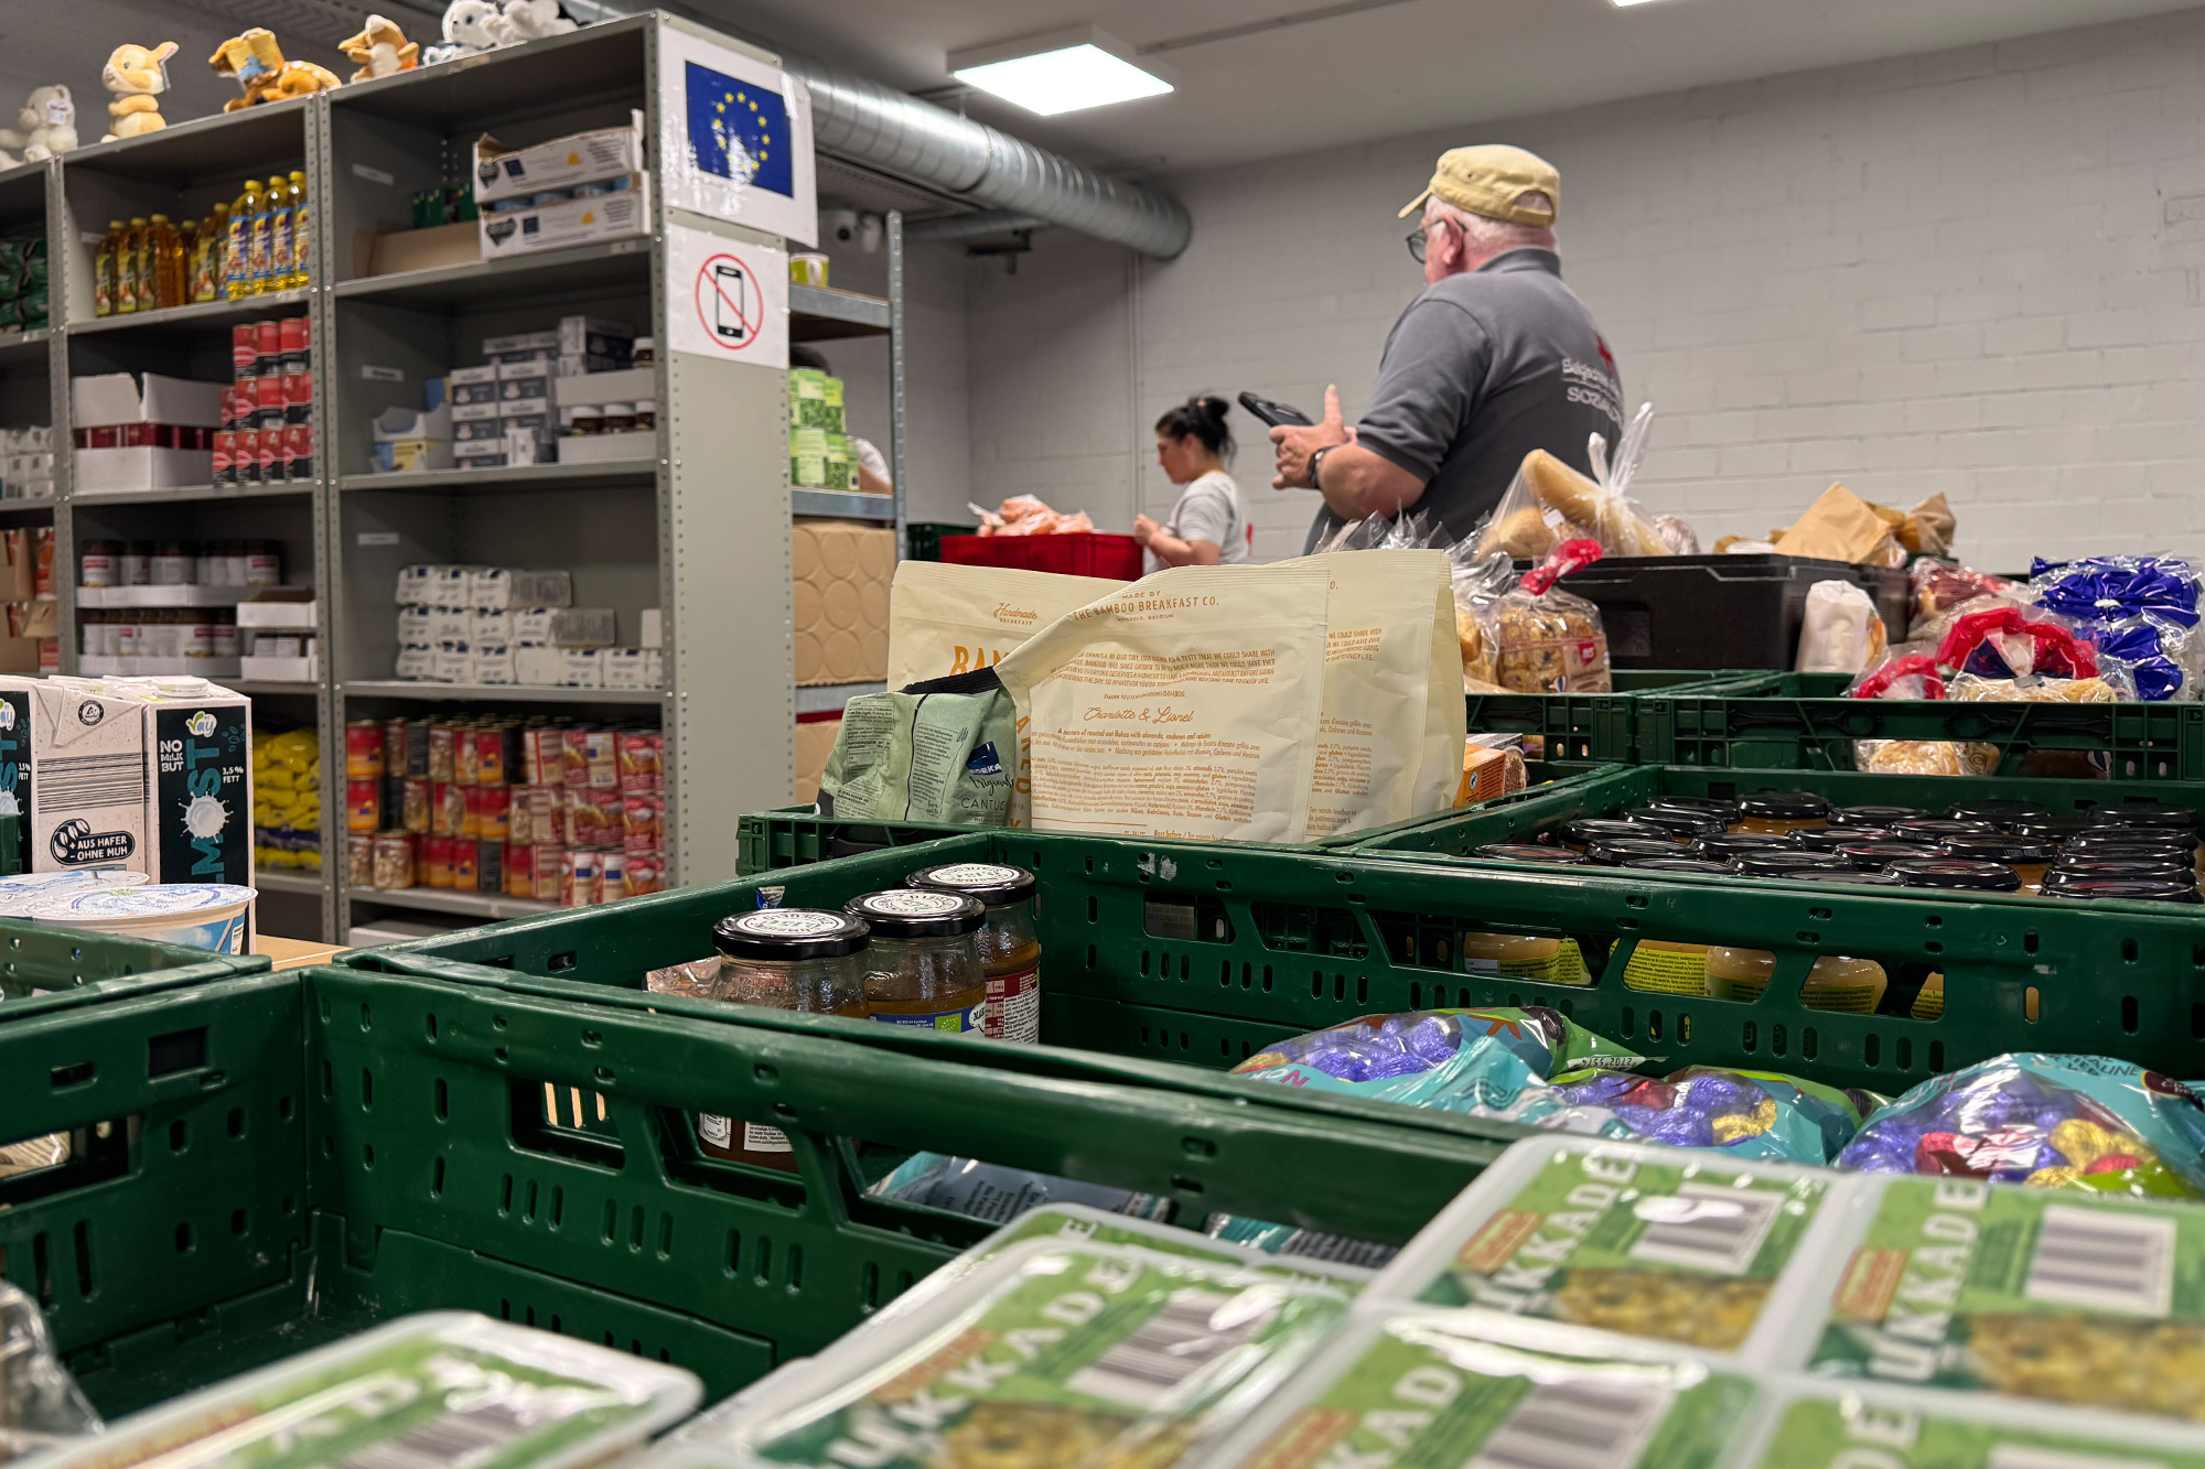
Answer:
POLYGON ((1676 1348, 1488 1312, 1358 1317, 1217 1469, 1685 1469, 1727 1462, 1760 1383, 1676 1348))

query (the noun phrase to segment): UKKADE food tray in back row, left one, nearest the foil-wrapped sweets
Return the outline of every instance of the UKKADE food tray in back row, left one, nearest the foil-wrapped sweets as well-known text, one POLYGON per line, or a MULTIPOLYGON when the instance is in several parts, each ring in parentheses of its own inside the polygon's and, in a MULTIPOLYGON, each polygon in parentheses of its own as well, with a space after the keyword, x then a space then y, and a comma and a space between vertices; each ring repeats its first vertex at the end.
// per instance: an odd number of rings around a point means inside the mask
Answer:
POLYGON ((1365 1299, 1766 1363, 1826 1262, 1843 1257, 1850 1207, 1872 1187, 1797 1162, 1524 1138, 1402 1246, 1365 1299))

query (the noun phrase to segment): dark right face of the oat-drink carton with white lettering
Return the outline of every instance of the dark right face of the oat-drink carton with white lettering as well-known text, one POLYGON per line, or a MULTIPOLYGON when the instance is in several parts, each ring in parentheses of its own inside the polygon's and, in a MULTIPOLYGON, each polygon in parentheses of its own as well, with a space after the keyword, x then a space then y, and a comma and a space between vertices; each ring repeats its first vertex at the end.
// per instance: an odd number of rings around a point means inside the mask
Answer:
POLYGON ((146 746, 146 871, 154 882, 249 887, 254 701, 205 684, 190 695, 163 690, 139 710, 146 746))

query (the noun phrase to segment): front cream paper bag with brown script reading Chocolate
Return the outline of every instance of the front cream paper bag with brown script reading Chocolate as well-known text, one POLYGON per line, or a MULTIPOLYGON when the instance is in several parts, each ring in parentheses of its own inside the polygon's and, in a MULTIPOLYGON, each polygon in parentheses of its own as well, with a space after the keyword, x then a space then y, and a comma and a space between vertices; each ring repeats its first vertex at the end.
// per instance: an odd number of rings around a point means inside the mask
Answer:
POLYGON ((997 664, 1025 721, 1034 829, 1303 840, 1330 587, 1308 558, 1173 567, 997 664))

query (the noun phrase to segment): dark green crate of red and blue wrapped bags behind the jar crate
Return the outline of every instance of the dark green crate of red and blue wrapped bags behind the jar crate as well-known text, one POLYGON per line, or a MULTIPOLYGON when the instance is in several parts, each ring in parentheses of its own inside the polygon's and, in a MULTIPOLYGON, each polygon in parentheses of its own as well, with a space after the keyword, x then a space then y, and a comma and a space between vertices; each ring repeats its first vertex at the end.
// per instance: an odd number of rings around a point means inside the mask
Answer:
POLYGON ((1859 739, 1943 739, 2000 750, 1998 774, 2037 774, 2077 752, 2117 781, 2205 779, 2205 704, 1960 704, 1846 699, 1843 673, 1771 673, 1722 690, 1636 701, 1638 763, 1854 770, 1859 739))

